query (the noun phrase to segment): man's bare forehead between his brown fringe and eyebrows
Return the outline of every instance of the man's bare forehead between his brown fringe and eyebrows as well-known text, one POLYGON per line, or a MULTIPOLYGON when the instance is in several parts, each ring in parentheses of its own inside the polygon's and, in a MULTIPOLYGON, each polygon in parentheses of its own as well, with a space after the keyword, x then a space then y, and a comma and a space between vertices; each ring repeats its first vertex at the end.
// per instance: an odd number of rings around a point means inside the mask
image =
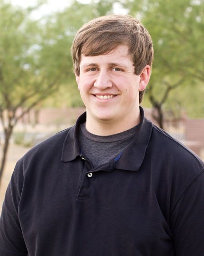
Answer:
POLYGON ((120 45, 114 48, 112 51, 107 53, 96 55, 96 56, 85 56, 81 55, 80 66, 89 63, 89 62, 129 62, 133 64, 131 55, 128 53, 128 47, 125 45, 120 45))

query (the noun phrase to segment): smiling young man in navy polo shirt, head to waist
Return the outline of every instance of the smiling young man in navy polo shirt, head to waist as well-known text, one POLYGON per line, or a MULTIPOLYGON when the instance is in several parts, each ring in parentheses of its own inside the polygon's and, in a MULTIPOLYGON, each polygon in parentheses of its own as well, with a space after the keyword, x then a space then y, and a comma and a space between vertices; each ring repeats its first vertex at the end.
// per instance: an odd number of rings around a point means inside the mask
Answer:
POLYGON ((87 112, 16 164, 0 256, 203 256, 204 163, 144 117, 152 41, 108 15, 72 47, 87 112))

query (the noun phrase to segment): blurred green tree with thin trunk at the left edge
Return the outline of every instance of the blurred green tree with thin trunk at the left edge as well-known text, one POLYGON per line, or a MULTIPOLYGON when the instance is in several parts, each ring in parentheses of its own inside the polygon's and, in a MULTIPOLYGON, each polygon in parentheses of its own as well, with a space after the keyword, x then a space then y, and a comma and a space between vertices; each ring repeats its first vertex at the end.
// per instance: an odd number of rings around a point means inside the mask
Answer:
POLYGON ((0 178, 16 123, 71 73, 61 38, 54 37, 43 20, 31 20, 32 10, 0 1, 0 120, 5 137, 0 178))

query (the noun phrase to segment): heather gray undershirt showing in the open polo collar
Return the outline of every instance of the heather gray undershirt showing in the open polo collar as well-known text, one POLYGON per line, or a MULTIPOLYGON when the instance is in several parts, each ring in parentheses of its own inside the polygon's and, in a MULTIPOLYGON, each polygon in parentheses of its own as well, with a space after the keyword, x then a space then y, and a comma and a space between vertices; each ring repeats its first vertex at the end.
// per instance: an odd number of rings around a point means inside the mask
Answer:
POLYGON ((89 133, 86 124, 80 125, 79 143, 82 154, 91 161, 94 167, 106 164, 115 159, 131 142, 137 130, 137 126, 109 136, 98 136, 89 133))

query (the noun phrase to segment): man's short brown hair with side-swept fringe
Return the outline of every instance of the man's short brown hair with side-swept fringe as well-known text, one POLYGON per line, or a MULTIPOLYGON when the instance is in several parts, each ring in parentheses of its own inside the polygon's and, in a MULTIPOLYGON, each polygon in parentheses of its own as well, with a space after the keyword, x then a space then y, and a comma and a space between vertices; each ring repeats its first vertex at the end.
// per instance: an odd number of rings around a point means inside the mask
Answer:
MULTIPOLYGON (((81 54, 102 55, 119 45, 128 46, 136 75, 140 75, 147 64, 152 66, 152 40, 141 22, 129 15, 107 15, 89 21, 76 34, 71 49, 74 72, 79 76, 81 54)), ((140 92, 140 103, 144 92, 140 92)))

